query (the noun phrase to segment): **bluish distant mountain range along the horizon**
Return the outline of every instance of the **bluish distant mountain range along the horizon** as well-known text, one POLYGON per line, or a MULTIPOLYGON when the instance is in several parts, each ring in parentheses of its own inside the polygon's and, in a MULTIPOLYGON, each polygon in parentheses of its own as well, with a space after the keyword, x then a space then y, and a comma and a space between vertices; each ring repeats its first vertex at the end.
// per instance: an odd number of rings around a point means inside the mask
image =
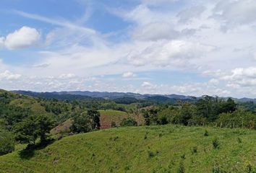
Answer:
MULTIPOLYGON (((72 91, 72 92, 30 92, 15 90, 12 91, 17 94, 23 94, 31 97, 41 97, 45 99, 60 99, 60 100, 74 100, 74 99, 112 99, 116 102, 120 102, 121 99, 125 99, 127 102, 135 102, 137 100, 148 100, 152 102, 166 103, 166 102, 176 102, 178 100, 182 101, 195 101, 200 99, 200 97, 184 96, 179 94, 137 94, 132 92, 82 92, 82 91, 72 91)), ((223 99, 227 99, 225 97, 223 99)), ((255 102, 256 99, 242 98, 236 99, 232 98, 236 102, 255 102)))

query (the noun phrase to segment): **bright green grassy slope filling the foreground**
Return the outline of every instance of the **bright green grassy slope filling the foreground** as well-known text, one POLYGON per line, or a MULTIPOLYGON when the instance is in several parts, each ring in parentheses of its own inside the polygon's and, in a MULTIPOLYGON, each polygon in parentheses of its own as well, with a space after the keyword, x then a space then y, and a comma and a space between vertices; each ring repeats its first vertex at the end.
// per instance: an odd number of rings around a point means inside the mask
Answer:
POLYGON ((69 136, 35 151, 30 159, 21 159, 17 151, 0 156, 0 172, 177 172, 182 160, 186 172, 212 172, 213 167, 244 172, 248 164, 256 164, 255 131, 206 129, 209 136, 203 136, 205 128, 174 125, 69 136), (212 146, 216 136, 218 150, 212 146), (194 146, 197 154, 192 154, 194 146))

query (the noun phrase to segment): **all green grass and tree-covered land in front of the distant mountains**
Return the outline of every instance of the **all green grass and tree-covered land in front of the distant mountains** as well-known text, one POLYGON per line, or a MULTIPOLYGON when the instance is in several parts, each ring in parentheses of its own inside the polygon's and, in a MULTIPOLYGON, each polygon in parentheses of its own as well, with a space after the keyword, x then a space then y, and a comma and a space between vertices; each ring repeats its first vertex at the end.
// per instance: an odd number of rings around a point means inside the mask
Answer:
POLYGON ((256 171, 252 102, 74 98, 0 90, 0 172, 256 171))

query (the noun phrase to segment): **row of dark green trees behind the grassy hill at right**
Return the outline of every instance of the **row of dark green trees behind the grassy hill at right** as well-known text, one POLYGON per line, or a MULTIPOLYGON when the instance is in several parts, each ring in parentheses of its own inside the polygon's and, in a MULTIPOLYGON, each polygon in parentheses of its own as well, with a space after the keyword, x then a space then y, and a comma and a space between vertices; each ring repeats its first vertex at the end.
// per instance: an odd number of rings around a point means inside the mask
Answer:
POLYGON ((213 125, 220 128, 256 129, 253 110, 241 107, 233 99, 203 96, 197 102, 179 102, 176 106, 155 106, 143 109, 145 125, 213 125))

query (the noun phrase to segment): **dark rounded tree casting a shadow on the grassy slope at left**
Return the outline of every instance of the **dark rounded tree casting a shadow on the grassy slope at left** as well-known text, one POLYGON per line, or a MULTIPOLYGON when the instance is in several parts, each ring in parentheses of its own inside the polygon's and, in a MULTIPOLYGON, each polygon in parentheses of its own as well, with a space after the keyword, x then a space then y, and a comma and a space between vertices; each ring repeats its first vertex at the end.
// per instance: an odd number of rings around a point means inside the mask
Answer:
POLYGON ((40 143, 43 143, 52 128, 54 128, 54 120, 48 115, 30 115, 15 125, 15 139, 20 143, 35 144, 40 138, 40 143))

